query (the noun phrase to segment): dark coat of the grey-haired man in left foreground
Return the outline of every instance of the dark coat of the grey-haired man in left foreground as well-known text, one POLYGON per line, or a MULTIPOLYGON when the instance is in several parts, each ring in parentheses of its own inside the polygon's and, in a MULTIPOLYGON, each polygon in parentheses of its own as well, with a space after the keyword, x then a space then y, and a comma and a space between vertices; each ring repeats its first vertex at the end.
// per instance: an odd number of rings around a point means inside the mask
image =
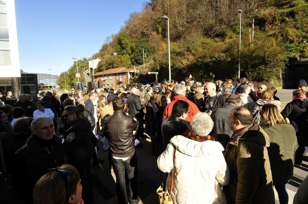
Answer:
POLYGON ((33 187, 47 169, 64 164, 62 140, 54 135, 48 150, 37 135, 32 134, 19 149, 13 161, 12 186, 23 201, 33 203, 33 187))

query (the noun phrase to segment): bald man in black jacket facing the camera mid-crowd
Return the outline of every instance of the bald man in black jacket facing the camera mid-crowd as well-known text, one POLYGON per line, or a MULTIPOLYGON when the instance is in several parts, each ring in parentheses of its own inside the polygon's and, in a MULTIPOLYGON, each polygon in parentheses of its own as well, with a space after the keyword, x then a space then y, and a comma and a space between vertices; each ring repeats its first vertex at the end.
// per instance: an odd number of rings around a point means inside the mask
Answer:
POLYGON ((216 84, 209 82, 205 85, 206 96, 203 100, 202 112, 207 112, 209 115, 213 110, 225 105, 225 97, 216 93, 216 84))

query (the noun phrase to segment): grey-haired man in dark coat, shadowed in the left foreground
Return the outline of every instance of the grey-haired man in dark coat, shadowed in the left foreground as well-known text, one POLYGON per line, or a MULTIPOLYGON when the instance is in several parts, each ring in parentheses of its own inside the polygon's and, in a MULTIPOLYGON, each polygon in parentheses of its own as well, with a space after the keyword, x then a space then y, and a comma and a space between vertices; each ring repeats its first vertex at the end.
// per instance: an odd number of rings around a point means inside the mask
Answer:
POLYGON ((36 181, 47 169, 63 165, 65 155, 62 140, 54 135, 54 125, 48 117, 35 118, 31 128, 26 145, 15 153, 12 169, 12 186, 26 204, 33 203, 36 181))

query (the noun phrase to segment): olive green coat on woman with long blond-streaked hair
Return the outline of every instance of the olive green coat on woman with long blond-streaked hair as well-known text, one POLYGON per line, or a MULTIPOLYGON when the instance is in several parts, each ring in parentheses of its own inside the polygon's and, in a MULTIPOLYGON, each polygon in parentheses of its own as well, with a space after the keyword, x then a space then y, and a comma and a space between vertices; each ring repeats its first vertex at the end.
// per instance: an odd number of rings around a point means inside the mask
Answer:
POLYGON ((285 185, 293 176, 294 153, 298 148, 295 130, 290 124, 264 125, 262 128, 270 138, 267 151, 274 186, 285 185))

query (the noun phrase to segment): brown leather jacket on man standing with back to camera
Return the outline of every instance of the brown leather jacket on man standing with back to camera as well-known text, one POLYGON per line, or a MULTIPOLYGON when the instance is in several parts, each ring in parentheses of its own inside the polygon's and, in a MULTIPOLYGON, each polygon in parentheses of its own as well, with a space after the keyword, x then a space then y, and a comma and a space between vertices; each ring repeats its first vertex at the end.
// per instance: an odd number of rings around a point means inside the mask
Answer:
POLYGON ((111 155, 115 157, 130 157, 135 153, 135 138, 133 131, 138 122, 124 111, 114 111, 104 119, 103 134, 109 142, 111 155))

